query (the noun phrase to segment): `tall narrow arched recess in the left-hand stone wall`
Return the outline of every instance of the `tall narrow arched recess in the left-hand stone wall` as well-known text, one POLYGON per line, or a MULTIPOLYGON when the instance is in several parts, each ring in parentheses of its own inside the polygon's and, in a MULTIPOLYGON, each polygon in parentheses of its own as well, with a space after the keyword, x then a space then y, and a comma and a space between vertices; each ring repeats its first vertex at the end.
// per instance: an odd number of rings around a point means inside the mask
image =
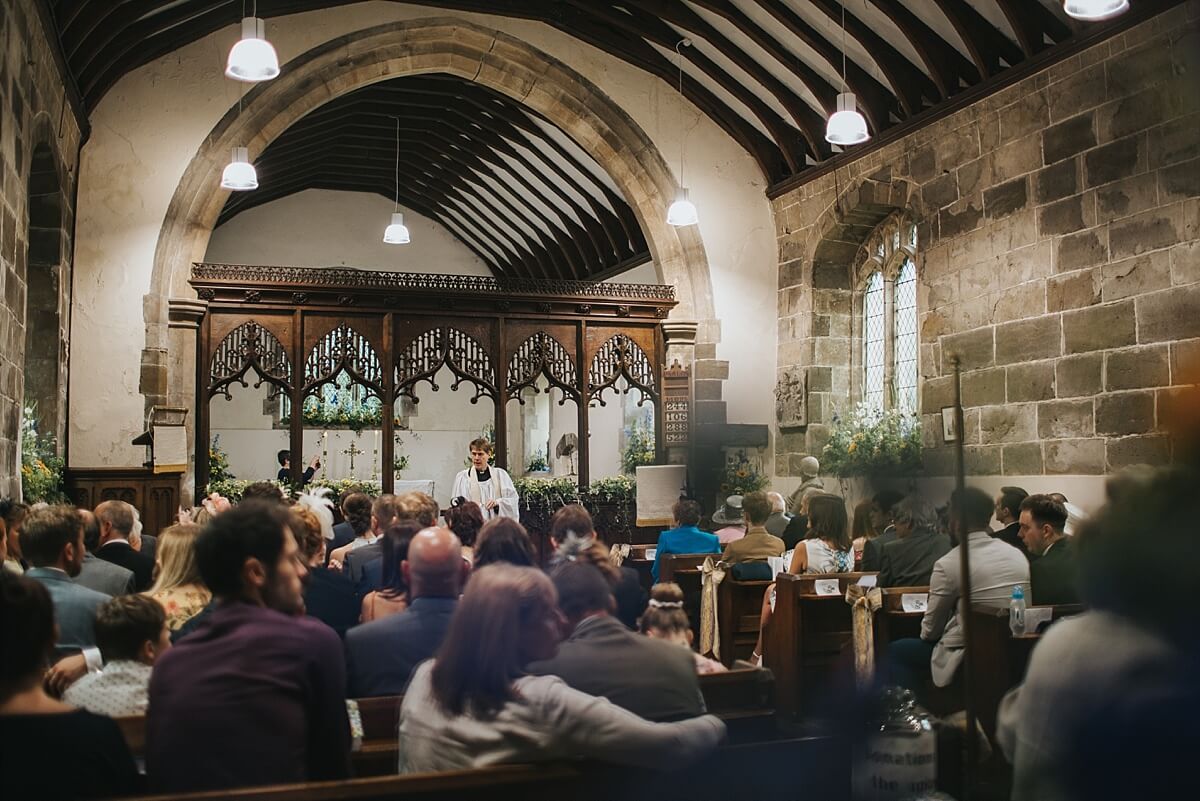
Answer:
MULTIPOLYGON (((62 161, 46 114, 34 121, 26 182, 23 404, 35 403, 37 429, 52 434, 62 450, 66 420, 67 343, 62 325, 64 293, 70 291, 70 222, 62 161)), ((23 412, 22 412, 23 414, 23 412)))

